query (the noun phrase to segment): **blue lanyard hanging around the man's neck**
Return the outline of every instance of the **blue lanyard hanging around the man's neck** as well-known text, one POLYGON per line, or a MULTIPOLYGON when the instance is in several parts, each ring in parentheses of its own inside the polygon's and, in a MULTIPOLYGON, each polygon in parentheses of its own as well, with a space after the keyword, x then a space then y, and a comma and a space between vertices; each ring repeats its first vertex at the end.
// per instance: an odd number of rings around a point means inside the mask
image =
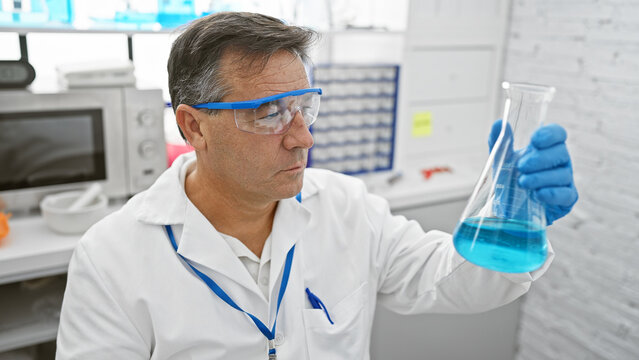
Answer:
MULTIPOLYGON (((299 194, 297 194, 295 196, 295 199, 301 203, 302 193, 300 192, 299 194)), ((189 263, 189 261, 184 256, 179 254, 177 252, 177 243, 175 242, 175 236, 173 236, 173 229, 171 228, 171 225, 164 225, 164 228, 166 229, 166 233, 169 236, 169 239, 171 240, 171 245, 173 246, 175 253, 178 254, 178 256, 180 256, 180 258, 182 258, 182 260, 184 260, 184 262, 187 265, 189 265, 189 267, 191 267, 193 272, 195 272, 197 276, 199 276, 200 279, 202 279, 202 281, 206 283, 206 285, 215 293, 215 295, 217 295, 220 299, 224 300, 225 303, 227 303, 229 306, 231 306, 235 310, 243 312, 244 314, 248 315, 251 318, 251 320, 253 320, 253 322, 255 323, 255 326, 257 326, 257 328, 262 332, 262 334, 264 334, 264 336, 268 340, 269 359, 276 359, 275 327, 277 326, 277 315, 280 312, 280 304, 282 303, 282 298, 284 297, 284 292, 286 292, 286 286, 288 285, 288 278, 289 278, 289 275, 291 274, 291 264, 293 263, 293 254, 295 253, 295 245, 293 245, 293 247, 291 247, 291 250, 288 251, 288 254, 286 254, 286 262, 284 263, 284 274, 282 275, 280 292, 277 297, 277 309, 275 310, 275 321, 273 322, 273 329, 269 330, 268 327, 264 325, 263 322, 260 321, 260 319, 255 317, 255 315, 248 313, 244 311, 241 307, 239 307, 231 299, 231 297, 228 296, 228 294, 224 292, 224 290, 222 290, 222 288, 218 284, 216 284, 215 281, 213 281, 213 279, 211 279, 210 277, 206 276, 201 271, 196 269, 193 265, 191 265, 191 263, 189 263)))

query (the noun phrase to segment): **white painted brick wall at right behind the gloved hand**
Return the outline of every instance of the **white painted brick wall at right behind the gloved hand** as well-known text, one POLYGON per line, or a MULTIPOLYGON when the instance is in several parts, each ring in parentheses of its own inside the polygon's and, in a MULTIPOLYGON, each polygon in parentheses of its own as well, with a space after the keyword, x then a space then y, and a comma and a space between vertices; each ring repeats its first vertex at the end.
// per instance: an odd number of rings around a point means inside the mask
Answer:
POLYGON ((557 87, 580 193, 517 359, 639 359, 639 1, 513 0, 504 79, 557 87))

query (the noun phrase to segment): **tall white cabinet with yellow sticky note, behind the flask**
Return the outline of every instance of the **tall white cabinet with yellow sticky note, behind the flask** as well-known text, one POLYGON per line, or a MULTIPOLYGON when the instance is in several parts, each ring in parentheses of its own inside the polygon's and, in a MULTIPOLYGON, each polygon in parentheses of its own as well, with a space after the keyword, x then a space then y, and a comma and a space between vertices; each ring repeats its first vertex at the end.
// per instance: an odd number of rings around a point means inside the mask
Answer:
POLYGON ((397 114, 398 168, 428 156, 487 151, 490 124, 500 116, 509 9, 510 0, 410 1, 397 114))

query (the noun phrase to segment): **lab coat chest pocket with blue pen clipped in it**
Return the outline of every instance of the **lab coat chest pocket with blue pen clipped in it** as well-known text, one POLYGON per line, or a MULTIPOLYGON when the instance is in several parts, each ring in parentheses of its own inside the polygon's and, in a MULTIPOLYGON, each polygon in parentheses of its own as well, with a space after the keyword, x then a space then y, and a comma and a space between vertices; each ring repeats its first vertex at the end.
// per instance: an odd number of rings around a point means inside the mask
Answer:
POLYGON ((328 313, 322 309, 304 309, 304 327, 310 360, 355 360, 367 353, 366 296, 368 283, 347 295, 328 313))

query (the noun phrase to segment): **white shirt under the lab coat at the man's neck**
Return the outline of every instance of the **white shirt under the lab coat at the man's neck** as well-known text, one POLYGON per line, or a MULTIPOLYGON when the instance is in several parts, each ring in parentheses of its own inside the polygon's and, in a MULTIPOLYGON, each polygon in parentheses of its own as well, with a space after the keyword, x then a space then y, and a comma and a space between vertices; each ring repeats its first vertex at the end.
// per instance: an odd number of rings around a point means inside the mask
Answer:
MULTIPOLYGON (((187 161, 180 168, 180 183, 182 184, 182 187, 184 187, 186 173, 191 164, 193 164, 193 162, 187 161)), ((249 250, 249 248, 246 247, 246 245, 244 245, 244 243, 239 239, 222 233, 220 233, 220 235, 224 240, 226 240, 226 243, 229 245, 231 250, 233 250, 233 253, 240 259, 242 264, 244 264, 244 267, 249 274, 251 274, 251 277, 255 280, 257 286, 260 290, 262 290, 264 297, 268 299, 268 282, 271 271, 271 235, 269 234, 268 238, 266 238, 261 257, 255 255, 255 253, 249 250)))

